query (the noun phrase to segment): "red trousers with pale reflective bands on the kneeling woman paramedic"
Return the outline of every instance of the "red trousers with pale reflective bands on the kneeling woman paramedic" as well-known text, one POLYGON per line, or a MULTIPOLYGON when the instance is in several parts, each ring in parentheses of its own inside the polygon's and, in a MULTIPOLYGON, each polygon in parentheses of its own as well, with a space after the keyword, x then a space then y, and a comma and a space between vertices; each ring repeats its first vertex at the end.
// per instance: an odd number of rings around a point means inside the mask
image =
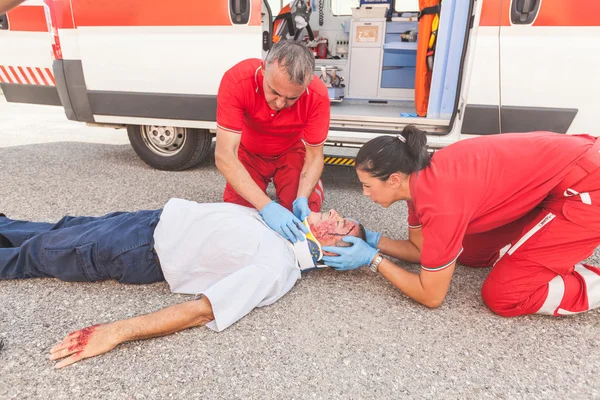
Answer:
POLYGON ((481 295, 495 313, 560 316, 600 307, 600 268, 581 264, 600 245, 599 143, 527 215, 465 236, 458 261, 493 266, 481 295))

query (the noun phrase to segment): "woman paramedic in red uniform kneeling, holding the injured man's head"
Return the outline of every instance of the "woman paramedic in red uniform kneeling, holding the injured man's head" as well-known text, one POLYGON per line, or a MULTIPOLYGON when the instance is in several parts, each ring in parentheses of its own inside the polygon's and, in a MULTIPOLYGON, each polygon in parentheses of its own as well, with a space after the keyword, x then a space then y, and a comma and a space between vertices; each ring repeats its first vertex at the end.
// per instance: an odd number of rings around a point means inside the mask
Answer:
POLYGON ((430 156, 413 126, 366 143, 363 191, 389 207, 407 200, 409 240, 367 231, 324 247, 339 270, 369 265, 427 307, 444 301, 456 263, 493 267, 482 288, 502 316, 569 315, 600 306, 600 140, 551 132, 463 140, 430 156), (419 274, 381 255, 420 262, 419 274))

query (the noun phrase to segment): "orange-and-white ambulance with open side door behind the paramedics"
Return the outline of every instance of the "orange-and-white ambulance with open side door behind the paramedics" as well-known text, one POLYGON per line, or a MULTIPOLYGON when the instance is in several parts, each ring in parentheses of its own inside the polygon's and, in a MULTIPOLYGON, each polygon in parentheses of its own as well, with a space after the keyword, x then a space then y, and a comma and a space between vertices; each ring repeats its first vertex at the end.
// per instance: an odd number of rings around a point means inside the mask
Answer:
MULTIPOLYGON (((346 27, 352 26, 350 13, 333 14, 341 2, 310 3, 310 25, 330 43, 347 39, 346 27)), ((268 4, 27 0, 4 22, 0 16, 0 86, 9 101, 62 105, 72 120, 127 126, 133 148, 148 164, 189 168, 210 150, 224 72, 264 55, 275 17, 268 4)), ((457 88, 448 100, 452 117, 411 119, 400 112, 406 104, 382 110, 381 101, 355 105, 344 99, 332 105, 330 142, 356 145, 408 123, 427 131, 434 147, 503 132, 600 135, 600 1, 444 0, 441 13, 456 16, 458 6, 463 18, 450 20, 468 22, 437 39, 464 35, 460 58, 452 47, 461 63, 451 75, 457 88), (334 106, 340 111, 346 105, 349 111, 335 114, 334 106)), ((444 57, 436 60, 445 65, 439 61, 444 57)), ((363 75, 348 73, 354 65, 349 59, 319 61, 341 66, 350 87, 351 76, 365 82, 363 75)), ((442 83, 438 89, 452 86, 442 83)))

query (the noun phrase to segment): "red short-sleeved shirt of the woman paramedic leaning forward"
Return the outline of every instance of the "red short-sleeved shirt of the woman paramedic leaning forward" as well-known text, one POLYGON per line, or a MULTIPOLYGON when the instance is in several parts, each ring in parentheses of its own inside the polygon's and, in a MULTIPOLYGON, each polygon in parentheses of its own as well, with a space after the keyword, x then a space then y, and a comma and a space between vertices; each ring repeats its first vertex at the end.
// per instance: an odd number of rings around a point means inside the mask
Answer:
POLYGON ((496 229, 538 206, 592 146, 588 135, 515 133, 467 139, 437 151, 411 175, 408 223, 421 225, 421 265, 456 261, 467 234, 496 229))

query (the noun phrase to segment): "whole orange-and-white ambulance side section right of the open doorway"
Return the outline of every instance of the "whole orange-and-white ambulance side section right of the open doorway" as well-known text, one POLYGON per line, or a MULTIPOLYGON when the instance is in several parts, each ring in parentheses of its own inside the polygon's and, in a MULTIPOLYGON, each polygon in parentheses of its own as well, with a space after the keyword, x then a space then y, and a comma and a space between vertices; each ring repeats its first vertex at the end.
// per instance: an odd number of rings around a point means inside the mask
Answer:
POLYGON ((600 135, 600 2, 484 0, 463 134, 600 135))

